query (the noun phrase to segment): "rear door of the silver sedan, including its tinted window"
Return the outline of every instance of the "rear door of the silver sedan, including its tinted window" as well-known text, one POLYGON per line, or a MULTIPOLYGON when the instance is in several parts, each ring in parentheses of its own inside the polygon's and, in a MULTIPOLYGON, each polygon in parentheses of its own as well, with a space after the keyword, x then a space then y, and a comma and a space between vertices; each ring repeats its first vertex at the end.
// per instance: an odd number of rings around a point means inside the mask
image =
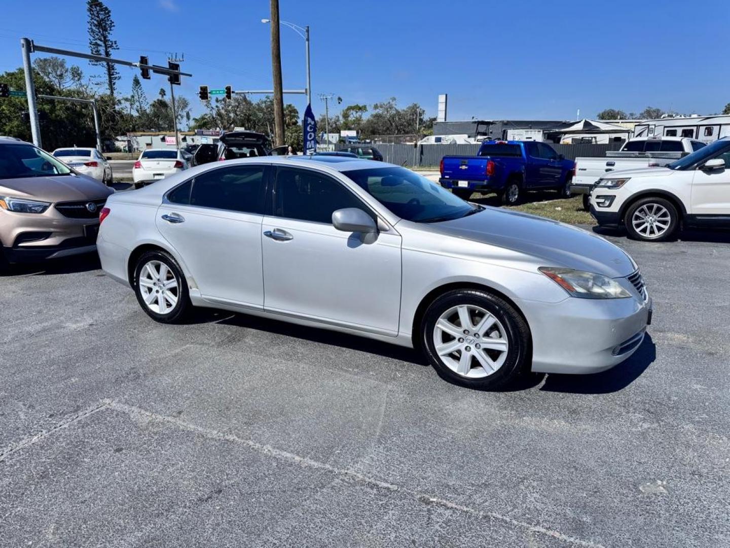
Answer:
POLYGON ((173 189, 157 227, 188 267, 203 297, 262 308, 264 165, 209 170, 173 189))

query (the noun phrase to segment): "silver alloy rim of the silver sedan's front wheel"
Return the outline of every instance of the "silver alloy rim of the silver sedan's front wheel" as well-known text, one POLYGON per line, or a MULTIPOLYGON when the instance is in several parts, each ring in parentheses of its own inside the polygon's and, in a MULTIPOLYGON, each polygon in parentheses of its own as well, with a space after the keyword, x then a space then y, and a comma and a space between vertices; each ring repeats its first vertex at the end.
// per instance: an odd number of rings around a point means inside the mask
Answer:
POLYGON ((466 378, 495 373, 510 350, 502 323, 484 308, 473 305, 453 306, 442 313, 433 338, 439 359, 466 378))

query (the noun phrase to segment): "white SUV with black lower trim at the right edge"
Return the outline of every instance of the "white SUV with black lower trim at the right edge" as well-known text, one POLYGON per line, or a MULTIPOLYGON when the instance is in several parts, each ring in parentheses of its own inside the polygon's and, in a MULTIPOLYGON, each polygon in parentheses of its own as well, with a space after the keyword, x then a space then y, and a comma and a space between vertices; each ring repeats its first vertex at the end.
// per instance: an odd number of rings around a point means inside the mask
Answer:
POLYGON ((661 241, 680 224, 730 227, 730 139, 723 138, 666 167, 614 171, 591 190, 591 215, 629 237, 661 241))

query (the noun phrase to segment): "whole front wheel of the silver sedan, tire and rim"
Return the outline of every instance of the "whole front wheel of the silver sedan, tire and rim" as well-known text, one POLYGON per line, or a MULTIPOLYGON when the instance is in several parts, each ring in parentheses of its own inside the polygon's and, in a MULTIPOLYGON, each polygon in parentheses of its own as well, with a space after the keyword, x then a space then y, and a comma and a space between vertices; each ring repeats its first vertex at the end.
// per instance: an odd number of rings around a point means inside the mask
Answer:
POLYGON ((426 358, 454 384, 499 389, 529 365, 526 321, 509 302, 485 291, 457 289, 441 295, 420 329, 426 358))

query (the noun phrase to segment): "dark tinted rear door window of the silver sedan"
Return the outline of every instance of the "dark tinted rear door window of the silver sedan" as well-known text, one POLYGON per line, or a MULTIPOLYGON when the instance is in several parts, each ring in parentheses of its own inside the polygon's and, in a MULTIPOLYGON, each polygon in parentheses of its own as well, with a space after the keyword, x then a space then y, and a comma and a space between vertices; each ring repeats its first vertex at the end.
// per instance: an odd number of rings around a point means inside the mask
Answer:
MULTIPOLYGON (((264 213, 265 170, 266 166, 233 166, 201 173, 193 180, 190 205, 242 213, 264 213)), ((183 193, 181 191, 181 198, 184 199, 183 193)))

